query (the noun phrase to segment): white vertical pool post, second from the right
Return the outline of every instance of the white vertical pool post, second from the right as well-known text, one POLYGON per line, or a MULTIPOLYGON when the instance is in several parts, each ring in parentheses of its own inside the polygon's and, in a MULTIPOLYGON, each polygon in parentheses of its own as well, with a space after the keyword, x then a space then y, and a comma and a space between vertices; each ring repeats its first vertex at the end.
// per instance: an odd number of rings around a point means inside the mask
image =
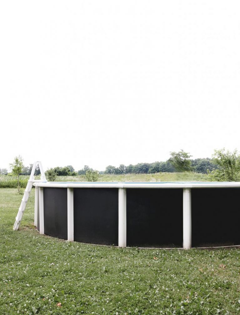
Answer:
POLYGON ((127 246, 126 188, 118 188, 118 247, 127 246))

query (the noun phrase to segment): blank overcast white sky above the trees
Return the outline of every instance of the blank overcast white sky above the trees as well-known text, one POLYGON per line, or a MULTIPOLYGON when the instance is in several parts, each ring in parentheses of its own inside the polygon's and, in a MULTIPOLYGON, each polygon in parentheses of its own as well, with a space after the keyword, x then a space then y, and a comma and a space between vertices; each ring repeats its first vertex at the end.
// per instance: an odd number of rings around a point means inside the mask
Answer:
POLYGON ((240 149, 239 1, 1 1, 0 168, 240 149))

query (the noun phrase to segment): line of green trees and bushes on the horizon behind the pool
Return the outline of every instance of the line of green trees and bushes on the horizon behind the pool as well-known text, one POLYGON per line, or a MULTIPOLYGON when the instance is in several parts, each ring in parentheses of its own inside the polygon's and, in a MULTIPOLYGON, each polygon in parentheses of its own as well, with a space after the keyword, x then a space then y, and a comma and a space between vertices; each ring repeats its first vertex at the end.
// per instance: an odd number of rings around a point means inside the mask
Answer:
MULTIPOLYGON (((33 164, 28 167, 23 165, 21 156, 14 158, 14 163, 10 164, 12 174, 16 176, 19 188, 19 176, 30 175, 33 164)), ((54 181, 56 176, 83 175, 87 181, 97 181, 99 174, 154 174, 159 172, 197 172, 208 174, 210 180, 215 181, 239 181, 240 180, 240 155, 235 149, 233 152, 226 151, 225 148, 215 150, 212 158, 191 159, 188 152, 170 152, 170 158, 165 162, 138 163, 119 167, 108 165, 105 171, 98 172, 85 165, 83 169, 76 172, 72 165, 55 167, 46 171, 48 180, 54 181)), ((7 175, 6 169, 0 169, 0 174, 7 175)), ((40 174, 39 167, 35 170, 35 175, 40 174)))

